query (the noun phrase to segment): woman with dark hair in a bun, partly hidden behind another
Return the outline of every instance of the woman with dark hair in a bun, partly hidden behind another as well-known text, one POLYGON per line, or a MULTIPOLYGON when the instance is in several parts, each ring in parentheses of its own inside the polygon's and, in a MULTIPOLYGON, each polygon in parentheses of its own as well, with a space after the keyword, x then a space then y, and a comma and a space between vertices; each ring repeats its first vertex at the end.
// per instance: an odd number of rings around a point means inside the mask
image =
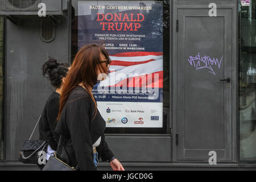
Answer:
MULTIPOLYGON (((56 59, 49 57, 48 61, 43 64, 43 76, 51 81, 55 87, 55 92, 48 97, 46 105, 39 122, 39 138, 48 143, 46 160, 57 150, 59 135, 55 133, 56 119, 59 113, 60 94, 65 83, 70 65, 68 63, 59 63, 56 59)), ((38 165, 40 169, 44 165, 38 165)))

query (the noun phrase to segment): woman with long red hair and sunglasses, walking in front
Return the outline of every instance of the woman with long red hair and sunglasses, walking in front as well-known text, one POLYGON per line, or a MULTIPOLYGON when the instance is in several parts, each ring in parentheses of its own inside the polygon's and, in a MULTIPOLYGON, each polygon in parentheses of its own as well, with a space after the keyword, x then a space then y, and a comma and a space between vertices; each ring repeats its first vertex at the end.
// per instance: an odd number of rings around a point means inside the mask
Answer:
POLYGON ((67 156, 60 154, 60 158, 69 166, 78 164, 80 170, 96 170, 101 158, 108 160, 113 170, 124 171, 105 142, 106 122, 92 94, 98 75, 108 75, 109 64, 109 55, 104 47, 97 44, 82 47, 76 54, 61 92, 55 131, 63 137, 59 148, 64 147, 67 156))

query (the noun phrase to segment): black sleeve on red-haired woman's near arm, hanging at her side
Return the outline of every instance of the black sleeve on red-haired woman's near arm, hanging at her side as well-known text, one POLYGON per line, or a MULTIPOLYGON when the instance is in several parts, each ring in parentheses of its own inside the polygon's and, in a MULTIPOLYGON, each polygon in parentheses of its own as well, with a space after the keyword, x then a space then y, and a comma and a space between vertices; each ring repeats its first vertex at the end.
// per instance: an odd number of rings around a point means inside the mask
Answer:
MULTIPOLYGON (((93 147, 90 138, 90 98, 66 103, 65 121, 72 139, 73 150, 81 170, 96 170, 93 163, 93 147)), ((60 118, 62 119, 62 118, 60 118)))

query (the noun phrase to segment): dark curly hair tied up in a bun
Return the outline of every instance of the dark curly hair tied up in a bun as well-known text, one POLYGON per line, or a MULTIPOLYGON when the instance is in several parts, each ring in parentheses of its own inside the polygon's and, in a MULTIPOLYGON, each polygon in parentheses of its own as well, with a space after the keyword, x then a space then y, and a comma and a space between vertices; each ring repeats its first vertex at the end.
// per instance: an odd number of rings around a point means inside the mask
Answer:
POLYGON ((48 61, 43 64, 43 76, 51 81, 52 86, 59 88, 62 78, 68 73, 68 63, 59 63, 56 59, 49 57, 48 61))

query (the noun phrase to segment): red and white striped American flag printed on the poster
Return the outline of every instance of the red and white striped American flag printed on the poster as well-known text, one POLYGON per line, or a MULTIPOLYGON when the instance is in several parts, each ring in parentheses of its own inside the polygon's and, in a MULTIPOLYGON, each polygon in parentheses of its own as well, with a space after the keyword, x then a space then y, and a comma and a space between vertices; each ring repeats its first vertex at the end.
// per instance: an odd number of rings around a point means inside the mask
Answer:
POLYGON ((163 88, 163 52, 122 52, 109 57, 109 77, 98 86, 163 88))

